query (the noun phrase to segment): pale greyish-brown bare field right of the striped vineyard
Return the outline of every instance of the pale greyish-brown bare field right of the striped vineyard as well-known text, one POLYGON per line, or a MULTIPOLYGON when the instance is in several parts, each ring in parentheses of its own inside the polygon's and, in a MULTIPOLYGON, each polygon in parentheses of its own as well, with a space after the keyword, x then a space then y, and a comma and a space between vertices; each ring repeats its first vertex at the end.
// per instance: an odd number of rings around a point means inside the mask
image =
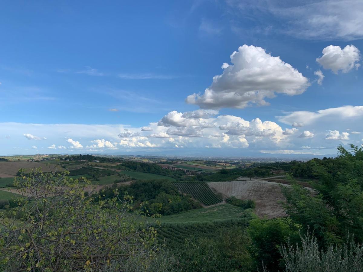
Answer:
POLYGON ((255 213, 259 217, 286 216, 282 205, 278 203, 284 201, 285 198, 281 193, 280 186, 274 182, 248 180, 208 182, 207 184, 226 197, 235 196, 239 199, 253 199, 256 202, 255 213))

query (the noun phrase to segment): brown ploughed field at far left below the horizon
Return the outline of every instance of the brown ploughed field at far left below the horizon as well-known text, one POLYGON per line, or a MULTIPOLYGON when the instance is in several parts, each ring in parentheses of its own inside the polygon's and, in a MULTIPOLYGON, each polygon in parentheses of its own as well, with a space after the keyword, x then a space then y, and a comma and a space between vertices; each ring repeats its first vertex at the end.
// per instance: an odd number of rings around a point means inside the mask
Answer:
POLYGON ((0 177, 15 177, 19 169, 33 169, 41 168, 44 172, 50 172, 53 170, 62 170, 58 165, 45 165, 40 162, 22 162, 22 161, 5 161, 0 162, 0 177))

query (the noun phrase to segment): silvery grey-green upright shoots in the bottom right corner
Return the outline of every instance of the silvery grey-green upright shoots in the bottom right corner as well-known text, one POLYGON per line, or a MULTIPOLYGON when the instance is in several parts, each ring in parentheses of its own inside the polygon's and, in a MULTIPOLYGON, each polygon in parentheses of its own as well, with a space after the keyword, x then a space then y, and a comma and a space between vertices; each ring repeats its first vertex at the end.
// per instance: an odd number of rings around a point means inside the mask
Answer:
POLYGON ((330 245, 326 250, 319 249, 317 239, 309 232, 301 241, 301 247, 288 242, 280 249, 286 272, 363 271, 363 247, 353 239, 348 238, 342 246, 330 245))

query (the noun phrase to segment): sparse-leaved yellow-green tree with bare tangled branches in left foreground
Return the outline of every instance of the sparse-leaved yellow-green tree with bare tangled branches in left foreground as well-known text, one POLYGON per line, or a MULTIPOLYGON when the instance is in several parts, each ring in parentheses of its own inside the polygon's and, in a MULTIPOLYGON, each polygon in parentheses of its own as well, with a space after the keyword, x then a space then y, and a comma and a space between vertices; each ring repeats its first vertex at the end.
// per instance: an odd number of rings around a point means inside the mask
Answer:
POLYGON ((130 197, 115 189, 95 202, 89 181, 66 174, 36 169, 15 180, 22 196, 0 217, 0 271, 171 270, 156 253, 156 230, 128 213, 130 197))

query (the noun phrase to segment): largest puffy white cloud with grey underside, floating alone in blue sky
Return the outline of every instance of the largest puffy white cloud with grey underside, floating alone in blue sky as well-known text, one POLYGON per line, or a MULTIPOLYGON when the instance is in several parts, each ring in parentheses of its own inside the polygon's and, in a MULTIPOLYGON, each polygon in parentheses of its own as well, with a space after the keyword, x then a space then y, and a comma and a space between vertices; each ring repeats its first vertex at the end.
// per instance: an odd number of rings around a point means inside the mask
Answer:
POLYGON ((204 94, 189 95, 187 103, 210 109, 266 105, 265 98, 273 98, 276 93, 302 94, 310 84, 289 63, 261 47, 240 46, 232 53, 231 62, 233 65, 223 64, 223 74, 213 77, 204 94))

